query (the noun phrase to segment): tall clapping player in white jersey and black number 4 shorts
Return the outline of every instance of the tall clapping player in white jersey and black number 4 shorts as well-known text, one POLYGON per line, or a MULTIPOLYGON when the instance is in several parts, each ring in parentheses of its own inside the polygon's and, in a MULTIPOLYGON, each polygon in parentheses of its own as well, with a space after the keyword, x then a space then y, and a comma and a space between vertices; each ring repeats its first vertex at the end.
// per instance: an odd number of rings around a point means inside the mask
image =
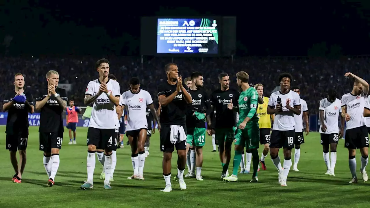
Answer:
MULTIPOLYGON (((99 78, 88 83, 85 105, 92 103, 91 119, 87 130, 87 181, 81 189, 92 189, 95 169, 95 152, 104 149, 104 189, 111 189, 112 151, 117 149, 118 117, 116 106, 120 105, 120 84, 111 80, 109 61, 105 58, 95 64, 99 78)), ((120 108, 120 107, 118 107, 120 108)), ((99 157, 99 155, 98 155, 99 157)))

